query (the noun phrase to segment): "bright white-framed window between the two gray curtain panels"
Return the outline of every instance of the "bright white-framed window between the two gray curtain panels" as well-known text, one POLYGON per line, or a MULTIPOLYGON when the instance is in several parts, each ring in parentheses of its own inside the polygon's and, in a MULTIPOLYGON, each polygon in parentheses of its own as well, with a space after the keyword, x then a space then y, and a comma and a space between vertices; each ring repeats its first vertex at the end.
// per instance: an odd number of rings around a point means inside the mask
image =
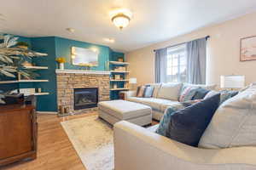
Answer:
POLYGON ((187 82, 185 44, 167 49, 167 82, 187 82))

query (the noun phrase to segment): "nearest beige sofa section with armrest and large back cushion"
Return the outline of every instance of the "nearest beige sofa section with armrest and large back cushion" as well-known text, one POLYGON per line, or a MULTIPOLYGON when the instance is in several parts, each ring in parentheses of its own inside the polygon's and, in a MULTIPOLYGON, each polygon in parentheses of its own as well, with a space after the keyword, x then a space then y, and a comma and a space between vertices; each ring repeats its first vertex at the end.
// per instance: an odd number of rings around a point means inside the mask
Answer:
POLYGON ((256 86, 218 107, 199 147, 130 122, 114 125, 115 170, 256 170, 256 86))

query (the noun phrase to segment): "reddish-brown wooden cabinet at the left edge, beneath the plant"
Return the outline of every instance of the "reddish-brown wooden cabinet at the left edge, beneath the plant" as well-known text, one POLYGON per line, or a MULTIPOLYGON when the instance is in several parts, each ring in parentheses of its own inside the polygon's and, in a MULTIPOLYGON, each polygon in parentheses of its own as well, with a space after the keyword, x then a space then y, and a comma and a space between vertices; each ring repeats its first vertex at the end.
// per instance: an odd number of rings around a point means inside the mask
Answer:
POLYGON ((32 105, 0 106, 0 166, 37 157, 38 124, 32 105))

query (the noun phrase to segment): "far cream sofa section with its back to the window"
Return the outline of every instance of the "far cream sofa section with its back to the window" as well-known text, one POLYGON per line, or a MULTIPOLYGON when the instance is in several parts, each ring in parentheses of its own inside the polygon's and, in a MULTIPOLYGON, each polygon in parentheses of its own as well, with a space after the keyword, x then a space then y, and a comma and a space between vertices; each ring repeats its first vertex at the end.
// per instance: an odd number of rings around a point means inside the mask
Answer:
POLYGON ((154 83, 147 84, 154 87, 154 94, 151 98, 138 98, 136 97, 136 91, 125 92, 125 100, 148 105, 152 108, 153 118, 160 121, 166 108, 169 106, 181 106, 178 98, 185 86, 207 88, 214 90, 216 85, 192 85, 187 83, 154 83))

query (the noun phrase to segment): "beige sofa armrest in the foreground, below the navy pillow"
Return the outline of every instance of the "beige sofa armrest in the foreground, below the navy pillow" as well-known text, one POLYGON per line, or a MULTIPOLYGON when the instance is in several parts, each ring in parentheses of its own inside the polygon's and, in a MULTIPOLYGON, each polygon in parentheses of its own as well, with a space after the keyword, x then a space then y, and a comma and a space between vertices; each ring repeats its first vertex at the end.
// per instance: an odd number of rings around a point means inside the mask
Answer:
POLYGON ((256 147, 199 149, 125 121, 113 132, 115 170, 256 169, 256 147))

